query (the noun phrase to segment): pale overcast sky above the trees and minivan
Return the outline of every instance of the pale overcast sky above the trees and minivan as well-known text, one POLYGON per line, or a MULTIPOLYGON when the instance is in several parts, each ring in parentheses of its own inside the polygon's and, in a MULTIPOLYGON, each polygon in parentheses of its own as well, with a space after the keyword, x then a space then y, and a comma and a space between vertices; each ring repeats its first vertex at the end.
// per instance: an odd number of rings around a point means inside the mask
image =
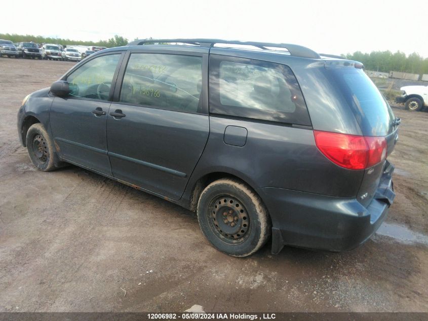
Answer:
POLYGON ((2 9, 0 33, 92 41, 114 34, 220 38, 330 54, 400 50, 428 57, 428 0, 20 0, 4 1, 2 9))

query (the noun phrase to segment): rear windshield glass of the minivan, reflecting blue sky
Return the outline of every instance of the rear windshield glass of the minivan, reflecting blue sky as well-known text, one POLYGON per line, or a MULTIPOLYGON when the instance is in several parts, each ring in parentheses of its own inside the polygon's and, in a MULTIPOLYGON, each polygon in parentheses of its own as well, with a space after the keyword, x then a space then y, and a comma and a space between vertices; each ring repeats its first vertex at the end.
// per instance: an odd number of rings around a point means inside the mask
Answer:
POLYGON ((327 68, 367 136, 385 136, 392 132, 395 119, 390 105, 362 69, 327 68))

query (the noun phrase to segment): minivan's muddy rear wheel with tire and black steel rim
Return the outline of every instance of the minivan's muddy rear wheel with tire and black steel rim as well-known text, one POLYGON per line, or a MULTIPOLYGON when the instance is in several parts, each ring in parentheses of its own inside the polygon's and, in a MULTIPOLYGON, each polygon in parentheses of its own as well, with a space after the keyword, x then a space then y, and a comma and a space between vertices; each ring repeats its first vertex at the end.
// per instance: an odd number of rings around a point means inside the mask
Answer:
POLYGON ((199 198, 197 212, 205 237, 230 256, 249 256, 270 236, 270 218, 263 202, 237 180, 221 179, 208 185, 199 198))

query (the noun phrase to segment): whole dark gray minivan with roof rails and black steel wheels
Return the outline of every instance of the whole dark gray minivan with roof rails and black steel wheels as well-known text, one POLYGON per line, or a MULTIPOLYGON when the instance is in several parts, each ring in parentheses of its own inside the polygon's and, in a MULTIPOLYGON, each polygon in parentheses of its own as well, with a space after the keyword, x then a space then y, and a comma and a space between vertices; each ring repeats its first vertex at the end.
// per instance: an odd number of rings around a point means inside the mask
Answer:
POLYGON ((366 241, 395 197, 399 123, 359 62, 207 39, 94 53, 18 113, 38 169, 71 163, 196 211, 236 257, 270 236, 275 254, 366 241))

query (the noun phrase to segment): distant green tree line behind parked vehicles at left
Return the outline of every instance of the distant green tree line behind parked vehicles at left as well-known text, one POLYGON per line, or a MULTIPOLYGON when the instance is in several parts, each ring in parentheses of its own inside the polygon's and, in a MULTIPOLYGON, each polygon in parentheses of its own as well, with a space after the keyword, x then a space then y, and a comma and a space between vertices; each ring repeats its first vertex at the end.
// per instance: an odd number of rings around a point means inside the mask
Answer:
POLYGON ((51 38, 51 37, 42 37, 41 35, 32 35, 32 34, 16 34, 16 33, 0 33, 0 39, 10 40, 14 43, 19 42, 34 42, 37 44, 58 44, 58 45, 82 45, 82 46, 99 46, 99 47, 119 47, 125 46, 128 44, 128 39, 122 37, 121 35, 114 35, 114 37, 108 40, 100 41, 80 41, 80 40, 70 40, 62 38, 51 38))

